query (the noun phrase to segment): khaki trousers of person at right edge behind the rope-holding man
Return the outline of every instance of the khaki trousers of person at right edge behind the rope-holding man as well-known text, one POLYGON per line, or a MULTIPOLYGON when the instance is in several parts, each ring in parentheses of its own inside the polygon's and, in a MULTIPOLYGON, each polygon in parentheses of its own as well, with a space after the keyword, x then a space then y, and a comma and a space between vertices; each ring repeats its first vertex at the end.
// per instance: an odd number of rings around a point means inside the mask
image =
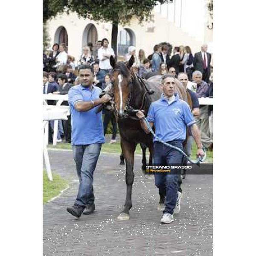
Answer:
POLYGON ((201 131, 202 144, 209 148, 212 144, 212 140, 209 137, 209 117, 208 117, 208 106, 200 108, 200 114, 195 117, 196 125, 201 131))

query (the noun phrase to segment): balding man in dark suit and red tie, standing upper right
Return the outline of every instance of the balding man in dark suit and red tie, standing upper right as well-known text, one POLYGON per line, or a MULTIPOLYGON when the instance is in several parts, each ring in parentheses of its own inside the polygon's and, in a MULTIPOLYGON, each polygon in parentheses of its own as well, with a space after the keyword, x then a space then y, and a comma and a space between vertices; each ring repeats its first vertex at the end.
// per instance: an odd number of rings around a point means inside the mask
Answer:
POLYGON ((201 46, 201 52, 195 53, 193 61, 194 69, 203 74, 203 81, 207 83, 209 83, 211 59, 212 55, 207 52, 207 44, 203 44, 201 46))

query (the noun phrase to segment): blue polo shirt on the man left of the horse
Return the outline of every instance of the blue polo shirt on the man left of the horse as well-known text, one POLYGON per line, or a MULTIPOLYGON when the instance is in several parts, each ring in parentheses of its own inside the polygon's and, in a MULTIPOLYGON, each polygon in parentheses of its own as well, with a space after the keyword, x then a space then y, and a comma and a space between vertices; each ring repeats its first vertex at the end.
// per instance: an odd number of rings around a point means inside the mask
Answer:
POLYGON ((84 112, 76 111, 74 108, 76 102, 99 99, 101 91, 99 87, 93 86, 93 90, 90 90, 81 84, 70 88, 68 102, 70 105, 72 127, 71 145, 105 143, 102 111, 96 113, 99 106, 84 112))

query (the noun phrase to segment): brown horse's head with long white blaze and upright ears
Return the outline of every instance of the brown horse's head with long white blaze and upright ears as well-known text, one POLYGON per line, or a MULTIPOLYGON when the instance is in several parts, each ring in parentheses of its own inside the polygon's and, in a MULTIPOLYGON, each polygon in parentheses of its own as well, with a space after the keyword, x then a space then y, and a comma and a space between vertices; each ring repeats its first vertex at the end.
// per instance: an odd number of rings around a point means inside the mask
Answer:
POLYGON ((127 64, 116 62, 113 56, 110 57, 110 64, 113 67, 112 90, 115 99, 116 113, 123 118, 128 111, 128 104, 132 90, 132 75, 130 68, 134 63, 134 56, 131 56, 127 64))

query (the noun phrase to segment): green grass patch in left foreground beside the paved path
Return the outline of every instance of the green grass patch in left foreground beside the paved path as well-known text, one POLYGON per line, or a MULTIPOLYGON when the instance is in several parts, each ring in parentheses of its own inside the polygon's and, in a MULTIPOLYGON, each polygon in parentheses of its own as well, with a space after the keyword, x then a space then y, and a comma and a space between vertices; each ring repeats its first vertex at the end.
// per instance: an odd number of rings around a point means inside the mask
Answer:
POLYGON ((47 172, 43 170, 43 204, 67 187, 67 181, 61 175, 52 173, 52 179, 53 181, 49 181, 47 172))

